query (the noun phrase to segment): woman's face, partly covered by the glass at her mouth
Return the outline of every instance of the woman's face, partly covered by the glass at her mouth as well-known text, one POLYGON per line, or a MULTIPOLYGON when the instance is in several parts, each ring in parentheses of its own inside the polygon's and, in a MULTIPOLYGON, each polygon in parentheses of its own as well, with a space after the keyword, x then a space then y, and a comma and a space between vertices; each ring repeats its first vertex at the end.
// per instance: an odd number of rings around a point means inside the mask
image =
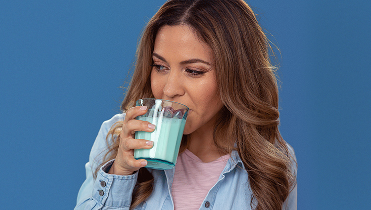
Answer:
POLYGON ((213 129, 223 103, 211 48, 188 26, 163 26, 157 33, 152 59, 154 97, 189 107, 184 134, 213 129))

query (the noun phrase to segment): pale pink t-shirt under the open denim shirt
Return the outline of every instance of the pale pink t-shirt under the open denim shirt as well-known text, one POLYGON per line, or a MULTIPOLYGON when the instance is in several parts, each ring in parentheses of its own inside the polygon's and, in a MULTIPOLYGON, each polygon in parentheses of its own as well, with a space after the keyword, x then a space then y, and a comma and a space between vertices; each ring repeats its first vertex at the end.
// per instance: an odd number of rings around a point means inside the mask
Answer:
POLYGON ((180 154, 175 165, 171 193, 175 210, 198 210, 209 190, 218 181, 230 155, 203 163, 189 150, 180 154))

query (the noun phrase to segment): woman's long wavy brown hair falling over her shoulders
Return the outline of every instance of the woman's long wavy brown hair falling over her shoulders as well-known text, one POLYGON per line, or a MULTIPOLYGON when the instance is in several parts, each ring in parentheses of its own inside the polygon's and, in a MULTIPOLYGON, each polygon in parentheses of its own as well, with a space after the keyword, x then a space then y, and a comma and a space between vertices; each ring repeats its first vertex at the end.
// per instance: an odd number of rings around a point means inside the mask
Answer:
MULTIPOLYGON (((249 176, 255 210, 281 210, 295 182, 290 154, 279 131, 278 85, 271 64, 272 47, 252 9, 243 0, 168 0, 145 27, 136 65, 121 109, 152 98, 150 73, 156 34, 165 25, 187 25, 213 50, 224 107, 214 129, 221 154, 236 150, 249 176), (227 140, 226 140, 227 139, 227 140)), ((107 135, 103 163, 116 157, 122 122, 107 135), (109 140, 108 140, 109 139, 109 140)), ((183 136, 181 151, 187 147, 183 136)), ((100 168, 96 168, 97 170, 100 168)), ((153 190, 153 176, 139 169, 131 209, 153 190)))

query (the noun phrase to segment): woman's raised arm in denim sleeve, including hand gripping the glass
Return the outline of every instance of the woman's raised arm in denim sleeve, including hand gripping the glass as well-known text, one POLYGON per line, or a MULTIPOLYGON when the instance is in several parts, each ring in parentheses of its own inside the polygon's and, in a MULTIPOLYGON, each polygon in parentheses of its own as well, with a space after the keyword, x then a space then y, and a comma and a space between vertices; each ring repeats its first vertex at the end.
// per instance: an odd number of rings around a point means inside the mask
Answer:
MULTIPOLYGON (((106 207, 129 210, 137 182, 138 172, 136 171, 147 164, 145 160, 134 159, 134 149, 150 149, 153 146, 153 141, 134 139, 135 131, 152 132, 154 130, 154 126, 149 122, 135 120, 146 110, 145 106, 133 107, 126 114, 115 115, 111 120, 102 124, 93 144, 89 163, 86 165, 87 179, 79 191, 75 210, 100 210, 106 207), (105 138, 111 126, 117 121, 122 121, 122 129, 116 159, 100 168, 94 180, 93 171, 100 163, 103 163, 103 157, 108 149, 105 138)), ((112 140, 108 139, 108 141, 112 140)))

